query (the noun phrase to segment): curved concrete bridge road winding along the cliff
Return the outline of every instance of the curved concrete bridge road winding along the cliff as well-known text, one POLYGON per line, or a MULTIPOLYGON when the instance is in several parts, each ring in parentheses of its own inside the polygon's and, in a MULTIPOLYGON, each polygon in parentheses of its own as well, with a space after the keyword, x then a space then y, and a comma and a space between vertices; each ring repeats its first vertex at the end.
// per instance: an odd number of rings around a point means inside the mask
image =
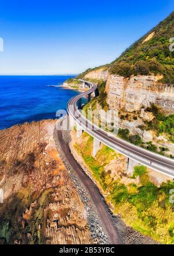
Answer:
POLYGON ((82 106, 82 97, 88 97, 88 101, 90 101, 90 95, 95 93, 95 96, 98 96, 99 92, 95 83, 85 80, 81 80, 81 82, 84 83, 84 85, 87 85, 90 89, 69 100, 67 103, 67 111, 81 131, 86 131, 89 135, 93 136, 94 142, 98 145, 97 149, 99 149, 99 143, 102 142, 104 145, 107 145, 111 149, 128 157, 128 163, 129 160, 133 160, 149 167, 150 169, 159 171, 166 176, 174 178, 173 159, 140 148, 139 146, 135 146, 132 143, 116 138, 114 135, 111 136, 107 131, 96 127, 96 125, 82 115, 81 111, 79 111, 82 106))

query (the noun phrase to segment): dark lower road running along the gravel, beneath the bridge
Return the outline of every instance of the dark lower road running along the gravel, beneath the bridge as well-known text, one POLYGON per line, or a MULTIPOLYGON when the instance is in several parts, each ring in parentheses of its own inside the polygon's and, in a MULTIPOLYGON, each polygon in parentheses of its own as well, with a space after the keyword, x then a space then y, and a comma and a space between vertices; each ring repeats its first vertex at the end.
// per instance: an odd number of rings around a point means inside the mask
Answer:
POLYGON ((57 136, 60 141, 61 149, 63 150, 68 163, 71 165, 72 169, 78 175, 79 180, 81 180, 82 184, 84 184, 86 190, 92 198, 93 204, 95 204, 100 219, 102 220, 106 232, 108 233, 108 237, 111 241, 111 244, 121 244, 121 240, 119 239, 117 230, 114 227, 111 215, 108 213, 107 206, 103 203, 99 192, 96 190, 90 178, 86 176, 84 171, 78 166, 74 157, 71 155, 70 149, 68 148, 66 142, 64 142, 61 130, 57 131, 57 136))

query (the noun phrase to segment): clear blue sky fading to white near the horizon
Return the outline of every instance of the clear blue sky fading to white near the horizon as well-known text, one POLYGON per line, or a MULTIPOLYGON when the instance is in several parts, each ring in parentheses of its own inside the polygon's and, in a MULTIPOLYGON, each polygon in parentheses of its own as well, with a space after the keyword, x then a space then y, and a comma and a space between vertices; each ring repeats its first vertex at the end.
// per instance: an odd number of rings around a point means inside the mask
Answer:
POLYGON ((174 0, 1 0, 0 74, 79 73, 109 63, 173 6, 174 0))

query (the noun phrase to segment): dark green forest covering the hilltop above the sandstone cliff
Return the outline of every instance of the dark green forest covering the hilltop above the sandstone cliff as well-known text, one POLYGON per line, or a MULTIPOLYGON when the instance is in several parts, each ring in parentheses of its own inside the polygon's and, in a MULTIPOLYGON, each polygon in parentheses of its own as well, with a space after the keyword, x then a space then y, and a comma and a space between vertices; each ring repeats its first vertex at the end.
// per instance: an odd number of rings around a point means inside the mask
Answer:
POLYGON ((162 82, 174 83, 174 52, 169 50, 173 34, 174 12, 113 61, 109 71, 124 77, 160 73, 162 82), (144 41, 150 34, 150 40, 144 41))

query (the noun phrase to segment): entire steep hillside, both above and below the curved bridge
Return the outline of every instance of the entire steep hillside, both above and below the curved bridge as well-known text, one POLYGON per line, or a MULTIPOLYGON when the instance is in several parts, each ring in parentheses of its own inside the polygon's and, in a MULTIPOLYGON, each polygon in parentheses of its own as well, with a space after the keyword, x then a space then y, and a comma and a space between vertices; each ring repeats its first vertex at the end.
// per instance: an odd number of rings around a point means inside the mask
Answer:
MULTIPOLYGON (((118 111, 118 136, 144 149, 174 157, 174 12, 111 64, 77 78, 95 82, 99 96, 85 105, 118 111)), ((112 211, 140 233, 174 243, 173 181, 146 166, 127 170, 126 157, 104 145, 92 156, 93 138, 71 132, 71 153, 96 183, 112 211), (128 214, 129 213, 129 214, 128 214)))

